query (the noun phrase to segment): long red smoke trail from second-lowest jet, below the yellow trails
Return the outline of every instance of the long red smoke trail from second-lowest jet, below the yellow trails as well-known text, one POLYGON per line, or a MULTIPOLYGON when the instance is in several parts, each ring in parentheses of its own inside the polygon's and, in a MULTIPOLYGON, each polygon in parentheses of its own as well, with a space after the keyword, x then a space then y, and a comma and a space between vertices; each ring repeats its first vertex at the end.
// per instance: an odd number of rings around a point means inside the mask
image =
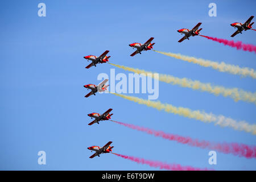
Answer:
MULTIPOLYGON (((113 121, 113 120, 110 120, 113 121)), ((205 140, 192 139, 190 137, 182 137, 180 135, 168 134, 163 131, 155 131, 152 129, 144 128, 141 126, 135 126, 128 123, 122 123, 118 121, 113 121, 119 125, 129 127, 134 130, 143 131, 150 135, 155 135, 155 137, 162 137, 164 139, 176 141, 178 143, 188 144, 193 147, 207 148, 209 150, 216 150, 225 154, 233 154, 238 156, 243 156, 245 158, 256 158, 256 146, 248 146, 246 144, 240 143, 213 143, 205 140)))

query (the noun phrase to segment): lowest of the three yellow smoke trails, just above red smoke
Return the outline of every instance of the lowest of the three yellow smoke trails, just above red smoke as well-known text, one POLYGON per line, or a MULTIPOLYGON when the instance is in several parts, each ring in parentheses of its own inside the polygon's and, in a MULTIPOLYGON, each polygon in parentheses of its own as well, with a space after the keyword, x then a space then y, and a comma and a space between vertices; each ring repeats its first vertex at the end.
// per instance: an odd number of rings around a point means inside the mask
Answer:
POLYGON ((153 107, 158 110, 164 110, 167 113, 179 114, 183 117, 197 119, 203 122, 213 122, 215 125, 220 125, 222 127, 232 127, 234 130, 246 131, 256 135, 256 125, 250 125, 245 121, 237 122, 232 118, 224 117, 223 115, 214 115, 212 113, 208 114, 200 110, 191 110, 185 107, 175 107, 171 104, 162 104, 160 101, 144 100, 142 98, 125 96, 123 94, 112 93, 115 96, 125 98, 126 100, 136 102, 138 104, 146 105, 148 107, 153 107))

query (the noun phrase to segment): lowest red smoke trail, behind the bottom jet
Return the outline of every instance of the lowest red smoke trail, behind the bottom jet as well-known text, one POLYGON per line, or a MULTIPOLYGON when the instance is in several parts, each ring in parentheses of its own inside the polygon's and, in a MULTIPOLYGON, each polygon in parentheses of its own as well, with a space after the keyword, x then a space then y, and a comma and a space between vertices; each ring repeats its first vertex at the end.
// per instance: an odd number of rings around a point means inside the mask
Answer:
MULTIPOLYGON (((166 164, 163 162, 158 162, 158 161, 154 161, 154 160, 147 160, 147 159, 143 159, 143 158, 137 158, 134 156, 127 156, 127 155, 122 155, 122 154, 115 154, 113 152, 111 152, 114 155, 117 155, 121 158, 124 159, 129 159, 132 160, 133 162, 137 162, 138 164, 147 164, 150 167, 155 167, 155 168, 160 168, 160 169, 167 169, 167 170, 172 170, 172 171, 208 171, 209 169, 204 168, 195 168, 192 166, 181 166, 180 164, 166 164)), ((212 170, 212 169, 210 169, 212 170)))

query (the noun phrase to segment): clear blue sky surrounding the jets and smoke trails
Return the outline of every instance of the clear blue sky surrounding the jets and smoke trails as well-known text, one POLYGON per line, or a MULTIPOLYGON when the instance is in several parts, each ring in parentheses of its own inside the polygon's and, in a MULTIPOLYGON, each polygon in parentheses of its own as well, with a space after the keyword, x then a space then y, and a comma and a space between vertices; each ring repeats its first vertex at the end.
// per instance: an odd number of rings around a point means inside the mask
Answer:
MULTIPOLYGON (((113 141, 113 151, 184 166, 217 170, 255 170, 255 159, 217 152, 217 165, 208 164, 208 152, 155 138, 112 122, 88 126, 87 114, 113 108, 113 119, 167 133, 213 142, 255 145, 255 136, 164 113, 113 96, 88 93, 85 84, 98 84, 109 64, 85 69, 86 55, 108 49, 114 64, 188 77, 255 92, 250 77, 220 73, 153 51, 130 57, 128 44, 144 43, 151 36, 158 51, 181 53, 240 67, 256 68, 255 54, 193 37, 177 43, 180 28, 202 22, 202 35, 255 44, 255 31, 230 38, 230 23, 255 15, 254 1, 5 1, 1 3, 0 169, 7 170, 154 170, 112 154, 89 159, 87 147, 113 141), (38 16, 38 3, 46 3, 46 17, 38 16), (217 17, 208 16, 215 2, 217 17), (47 164, 38 165, 38 151, 46 151, 47 164)), ((255 18, 254 18, 255 21, 255 18)), ((115 69, 116 73, 129 72, 115 69)), ((130 94, 147 98, 147 94, 130 94)), ((159 82, 159 100, 174 106, 223 114, 254 123, 255 105, 159 82)))

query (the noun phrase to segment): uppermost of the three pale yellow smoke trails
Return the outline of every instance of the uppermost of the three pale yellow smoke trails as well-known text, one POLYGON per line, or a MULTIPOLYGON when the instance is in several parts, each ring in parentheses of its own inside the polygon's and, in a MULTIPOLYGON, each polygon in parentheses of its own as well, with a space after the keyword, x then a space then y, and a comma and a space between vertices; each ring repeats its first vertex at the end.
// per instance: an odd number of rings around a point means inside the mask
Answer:
POLYGON ((214 61, 204 60, 201 58, 184 56, 179 53, 162 52, 162 51, 156 51, 156 50, 153 50, 153 51, 162 53, 163 55, 166 55, 166 56, 174 57, 179 60, 188 61, 189 63, 199 64, 202 67, 211 67, 213 69, 217 69, 220 72, 228 72, 233 75, 251 76, 253 78, 256 78, 256 72, 252 68, 240 68, 238 67, 238 65, 226 64, 224 62, 217 63, 214 61))

